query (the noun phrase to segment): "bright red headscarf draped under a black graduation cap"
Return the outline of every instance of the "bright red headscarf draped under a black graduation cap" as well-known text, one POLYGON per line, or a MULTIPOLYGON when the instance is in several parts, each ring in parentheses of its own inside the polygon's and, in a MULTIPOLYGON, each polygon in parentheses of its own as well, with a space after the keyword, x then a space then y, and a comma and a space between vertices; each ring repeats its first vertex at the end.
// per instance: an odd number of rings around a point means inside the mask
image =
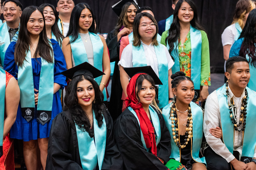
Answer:
POLYGON ((125 99, 125 105, 126 107, 130 106, 136 112, 136 115, 140 121, 140 127, 146 143, 146 147, 151 148, 151 152, 156 156, 157 150, 153 126, 148 118, 147 113, 142 108, 141 103, 138 103, 138 99, 136 97, 136 81, 141 74, 145 73, 135 74, 133 77, 131 77, 130 83, 126 89, 127 98, 125 99))

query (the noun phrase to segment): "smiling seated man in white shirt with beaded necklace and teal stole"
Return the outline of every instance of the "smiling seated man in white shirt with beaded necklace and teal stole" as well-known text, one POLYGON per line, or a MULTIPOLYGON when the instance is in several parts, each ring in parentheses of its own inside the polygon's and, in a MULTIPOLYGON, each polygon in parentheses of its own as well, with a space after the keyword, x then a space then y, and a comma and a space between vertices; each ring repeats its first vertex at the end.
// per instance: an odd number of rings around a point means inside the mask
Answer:
POLYGON ((205 104, 204 135, 210 147, 204 150, 208 170, 256 169, 256 93, 247 86, 250 69, 247 59, 229 58, 222 87, 211 93, 205 104), (221 127, 222 139, 211 134, 221 127))

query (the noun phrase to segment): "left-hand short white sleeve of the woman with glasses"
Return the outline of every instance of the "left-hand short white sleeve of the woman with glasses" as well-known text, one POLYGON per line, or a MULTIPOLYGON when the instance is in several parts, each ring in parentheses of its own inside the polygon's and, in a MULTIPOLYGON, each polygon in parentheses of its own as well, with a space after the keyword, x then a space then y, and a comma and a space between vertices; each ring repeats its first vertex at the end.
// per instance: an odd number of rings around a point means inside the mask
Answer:
POLYGON ((121 55, 120 61, 118 62, 118 66, 120 65, 123 67, 132 67, 132 44, 128 44, 121 55))

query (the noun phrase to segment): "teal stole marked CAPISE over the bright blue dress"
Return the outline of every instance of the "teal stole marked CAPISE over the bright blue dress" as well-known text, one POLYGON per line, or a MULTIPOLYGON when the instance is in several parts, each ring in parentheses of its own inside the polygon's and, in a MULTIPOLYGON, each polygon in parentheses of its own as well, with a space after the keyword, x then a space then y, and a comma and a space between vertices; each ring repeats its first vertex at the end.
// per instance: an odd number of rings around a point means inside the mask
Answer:
MULTIPOLYGON (((50 44, 52 47, 52 45, 50 44)), ((39 79, 37 115, 35 115, 35 91, 32 71, 31 52, 28 50, 23 66, 18 67, 18 85, 20 87, 20 103, 22 117, 26 121, 35 116, 42 125, 51 120, 54 84, 54 57, 53 63, 48 63, 41 57, 42 67, 39 79)))

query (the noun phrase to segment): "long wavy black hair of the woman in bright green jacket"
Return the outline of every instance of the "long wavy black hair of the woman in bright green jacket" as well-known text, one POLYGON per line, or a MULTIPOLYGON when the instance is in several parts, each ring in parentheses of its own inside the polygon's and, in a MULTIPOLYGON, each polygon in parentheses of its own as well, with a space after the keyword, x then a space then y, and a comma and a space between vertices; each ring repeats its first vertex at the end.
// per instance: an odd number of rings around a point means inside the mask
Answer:
MULTIPOLYGON (((191 8, 194 11, 194 17, 193 19, 190 21, 190 24, 192 27, 196 28, 197 30, 204 30, 204 28, 201 26, 201 24, 199 23, 199 17, 198 17, 198 13, 197 13, 197 9, 196 9, 196 5, 192 0, 179 0, 175 6, 175 10, 173 12, 173 22, 171 24, 171 27, 168 31, 168 36, 165 39, 165 43, 169 45, 169 53, 171 54, 172 50, 174 49, 174 43, 177 42, 179 36, 180 36, 180 20, 178 18, 178 12, 179 9, 181 8, 181 4, 183 2, 187 2, 191 8)), ((176 44, 176 46, 178 46, 178 44, 176 44)), ((174 61, 174 56, 171 55, 171 58, 174 61)))

